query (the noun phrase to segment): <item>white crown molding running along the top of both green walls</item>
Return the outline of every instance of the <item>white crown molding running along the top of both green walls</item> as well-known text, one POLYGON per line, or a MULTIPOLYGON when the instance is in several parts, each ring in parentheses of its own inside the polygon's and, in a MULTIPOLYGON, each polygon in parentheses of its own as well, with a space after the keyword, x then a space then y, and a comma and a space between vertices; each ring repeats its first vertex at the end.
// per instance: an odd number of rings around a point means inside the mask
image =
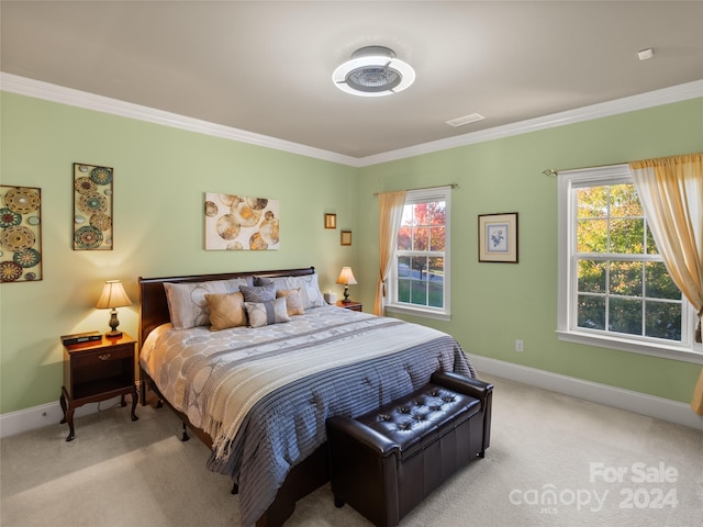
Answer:
POLYGON ((529 119, 517 123, 495 126, 493 128, 471 132, 446 139, 433 141, 421 145, 410 146, 408 148, 400 148, 398 150, 386 152, 383 154, 361 158, 345 156, 334 152, 323 150, 321 148, 313 148, 298 143, 278 139, 276 137, 255 134, 253 132, 187 117, 176 113, 142 106, 140 104, 133 104, 131 102, 124 102, 108 97, 96 96, 93 93, 74 90, 40 80, 33 80, 12 74, 0 72, 0 90, 83 108, 87 110, 94 110, 97 112, 161 124, 164 126, 171 126, 200 134, 212 135, 225 139, 238 141, 291 154, 299 154, 341 165, 368 167, 380 162, 394 161, 423 154, 432 154, 434 152, 446 150, 459 146, 467 146, 487 141, 510 137, 513 135, 536 132, 539 130, 547 130, 555 126, 591 121, 593 119, 644 110, 689 99, 696 99, 699 97, 703 97, 703 80, 695 80, 648 93, 592 104, 590 106, 554 113, 551 115, 544 115, 542 117, 529 119))

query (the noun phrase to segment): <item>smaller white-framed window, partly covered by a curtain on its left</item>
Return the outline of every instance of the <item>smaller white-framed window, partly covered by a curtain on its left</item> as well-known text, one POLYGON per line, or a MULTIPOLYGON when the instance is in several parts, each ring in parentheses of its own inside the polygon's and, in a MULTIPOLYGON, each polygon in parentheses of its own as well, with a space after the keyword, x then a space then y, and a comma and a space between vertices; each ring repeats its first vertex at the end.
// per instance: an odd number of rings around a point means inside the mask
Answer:
POLYGON ((449 318, 449 194, 444 187, 405 195, 387 309, 449 318))

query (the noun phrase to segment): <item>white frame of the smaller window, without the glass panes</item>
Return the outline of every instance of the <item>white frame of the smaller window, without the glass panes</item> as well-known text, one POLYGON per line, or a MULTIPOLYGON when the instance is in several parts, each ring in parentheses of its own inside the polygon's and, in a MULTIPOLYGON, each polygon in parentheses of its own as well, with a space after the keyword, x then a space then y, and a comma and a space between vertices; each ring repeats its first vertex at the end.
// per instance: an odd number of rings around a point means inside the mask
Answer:
MULTIPOLYGON (((406 205, 414 205, 417 203, 427 203, 431 201, 444 201, 445 202, 445 250, 444 251, 412 251, 421 253, 423 255, 443 256, 444 258, 444 306, 432 307, 427 305, 414 305, 405 302, 398 301, 398 248, 393 250, 393 258, 391 270, 388 276, 387 291, 388 294, 383 299, 384 309, 388 312, 409 314, 414 316, 424 316, 427 318, 435 318, 438 321, 451 319, 451 302, 450 302, 450 240, 451 240, 451 187, 434 187, 428 189, 409 190, 405 194, 406 205), (444 254, 442 254, 444 253, 444 254)), ((405 251, 403 255, 405 256, 405 251)))

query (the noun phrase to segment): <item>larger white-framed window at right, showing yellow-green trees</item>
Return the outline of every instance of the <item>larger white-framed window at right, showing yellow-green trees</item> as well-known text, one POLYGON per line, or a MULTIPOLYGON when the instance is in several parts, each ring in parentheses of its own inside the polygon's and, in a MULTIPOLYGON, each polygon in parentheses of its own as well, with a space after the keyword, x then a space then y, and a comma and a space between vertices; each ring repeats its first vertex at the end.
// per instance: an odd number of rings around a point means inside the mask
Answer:
POLYGON ((628 166, 558 178, 559 337, 692 359, 693 309, 657 250, 628 166))

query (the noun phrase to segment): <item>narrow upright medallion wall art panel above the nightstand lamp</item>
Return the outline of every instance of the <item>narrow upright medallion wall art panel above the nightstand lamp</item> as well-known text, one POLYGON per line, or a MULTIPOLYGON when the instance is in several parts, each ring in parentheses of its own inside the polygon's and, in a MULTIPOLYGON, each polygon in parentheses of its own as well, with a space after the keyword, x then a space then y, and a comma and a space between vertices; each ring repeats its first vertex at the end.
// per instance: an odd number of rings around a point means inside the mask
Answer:
POLYGON ((74 249, 112 250, 110 167, 74 164, 74 249))

